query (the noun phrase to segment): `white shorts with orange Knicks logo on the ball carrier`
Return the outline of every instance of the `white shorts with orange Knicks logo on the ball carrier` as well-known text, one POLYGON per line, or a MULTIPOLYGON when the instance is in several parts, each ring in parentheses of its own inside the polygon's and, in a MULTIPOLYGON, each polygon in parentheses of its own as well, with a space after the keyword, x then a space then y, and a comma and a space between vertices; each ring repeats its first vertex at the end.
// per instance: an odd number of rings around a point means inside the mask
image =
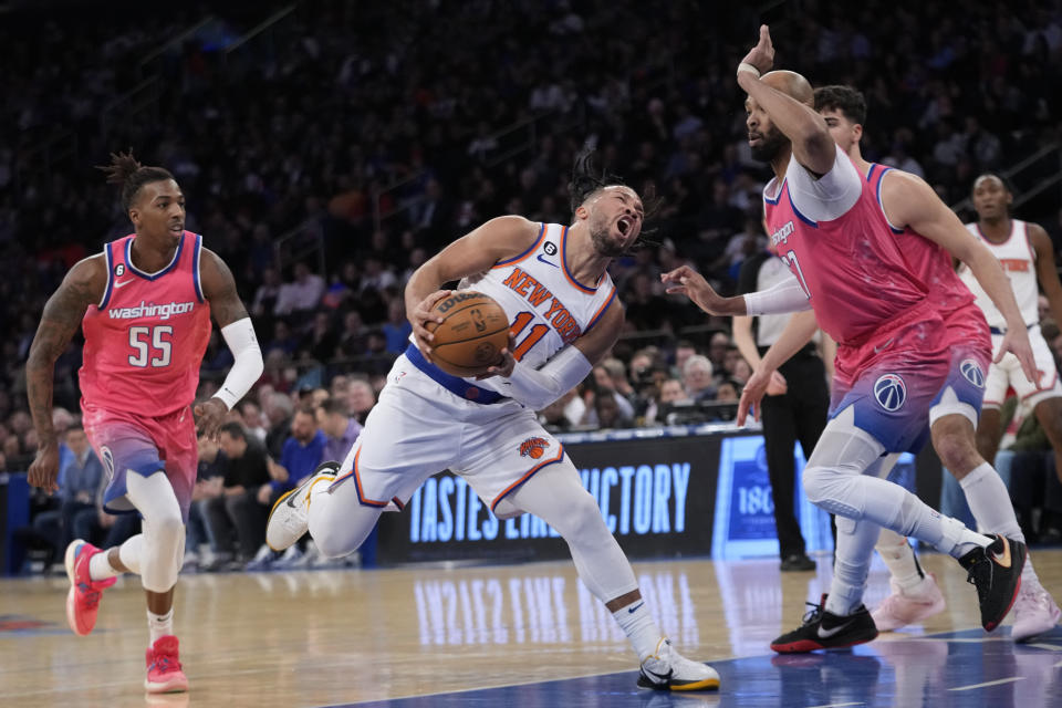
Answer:
POLYGON ((518 516, 510 494, 543 467, 565 461, 564 448, 533 410, 511 398, 468 400, 455 391, 473 386, 427 367, 431 375, 398 357, 333 487, 354 483, 361 504, 400 509, 424 480, 449 469, 499 519, 518 516))

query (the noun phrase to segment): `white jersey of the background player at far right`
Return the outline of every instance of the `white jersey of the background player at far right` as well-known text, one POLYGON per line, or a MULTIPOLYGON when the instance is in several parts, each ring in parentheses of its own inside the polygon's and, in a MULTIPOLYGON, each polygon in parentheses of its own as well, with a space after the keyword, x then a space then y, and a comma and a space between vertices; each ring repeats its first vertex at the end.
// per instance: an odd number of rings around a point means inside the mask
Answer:
MULTIPOLYGON (((999 264, 1003 267, 1003 272, 1010 279, 1010 287, 1014 291, 1014 299, 1018 301, 1018 309, 1021 310, 1021 319, 1025 321, 1025 325, 1033 325, 1039 322, 1040 313, 1037 309, 1037 300, 1040 290, 1037 285, 1037 253, 1032 248, 1032 241, 1029 240, 1027 223, 1018 219, 1011 219, 1010 236, 1002 243, 992 243, 986 239, 976 223, 967 223, 966 228, 988 247, 999 264)), ((974 278, 969 267, 964 263, 959 267, 958 272, 959 278, 977 298, 977 306, 985 313, 988 326, 999 330, 1004 329, 1007 321, 1003 319, 1003 314, 980 283, 977 282, 977 279, 974 278)))

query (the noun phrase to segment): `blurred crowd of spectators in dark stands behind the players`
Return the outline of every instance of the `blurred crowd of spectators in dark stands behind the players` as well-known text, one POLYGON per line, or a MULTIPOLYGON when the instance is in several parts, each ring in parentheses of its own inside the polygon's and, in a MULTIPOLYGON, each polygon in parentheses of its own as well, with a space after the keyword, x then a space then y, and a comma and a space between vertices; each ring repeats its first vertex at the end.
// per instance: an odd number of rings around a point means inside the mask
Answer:
MULTIPOLYGON (((961 10, 802 0, 767 18, 746 4, 305 0, 288 11, 238 1, 163 15, 118 1, 9 13, 0 23, 0 471, 25 469, 35 449, 23 367, 45 299, 70 266, 129 231, 117 195, 91 168, 111 150, 132 147, 174 173, 187 228, 232 268, 263 345, 261 382, 220 448, 202 445, 191 527, 217 558, 247 562, 269 500, 316 465, 306 449, 337 450, 372 408, 406 346, 402 292, 413 270, 494 216, 570 221, 566 179, 587 144, 603 169, 659 206, 652 243, 612 271, 627 310, 623 337, 543 421, 570 430, 732 415, 722 404, 737 400, 750 369, 729 323, 666 295, 659 273, 688 262, 730 293, 743 260, 766 247, 769 174, 746 145, 733 81, 761 20, 780 67, 865 92, 864 156, 923 175, 948 204, 982 170, 1062 139, 1059 0, 961 10)), ((1055 187, 1020 212, 1056 249, 1059 206, 1055 187)), ((1044 332, 1062 354, 1058 326, 1044 332)), ((98 509, 96 472, 82 469, 80 364, 75 340, 55 376, 55 405, 73 413, 56 416, 74 438, 64 468, 74 486, 41 500, 42 524, 67 535, 79 522, 97 537, 125 532, 98 509)), ((216 332, 201 397, 230 364, 216 332)))

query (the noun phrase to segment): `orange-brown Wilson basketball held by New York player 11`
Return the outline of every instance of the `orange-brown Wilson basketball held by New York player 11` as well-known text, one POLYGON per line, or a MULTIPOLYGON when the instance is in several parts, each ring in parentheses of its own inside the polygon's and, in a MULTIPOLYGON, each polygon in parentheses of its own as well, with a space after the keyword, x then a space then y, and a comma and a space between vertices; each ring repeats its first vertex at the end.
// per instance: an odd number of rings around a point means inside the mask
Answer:
POLYGON ((429 322, 435 334, 431 361, 454 376, 477 376, 501 358, 509 344, 509 317, 494 299, 473 290, 459 290, 435 304, 442 322, 429 322))

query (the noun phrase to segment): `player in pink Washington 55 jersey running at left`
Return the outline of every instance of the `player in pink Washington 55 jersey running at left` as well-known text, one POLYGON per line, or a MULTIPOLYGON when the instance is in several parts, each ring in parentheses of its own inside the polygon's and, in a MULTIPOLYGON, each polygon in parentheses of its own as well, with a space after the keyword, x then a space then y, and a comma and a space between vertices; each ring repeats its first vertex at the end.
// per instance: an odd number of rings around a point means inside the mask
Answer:
POLYGON ((81 326, 81 407, 85 433, 107 471, 105 509, 138 511, 144 522, 142 533, 106 551, 80 539, 70 544, 66 618, 74 633, 88 634, 103 590, 119 573, 139 574, 150 633, 145 688, 187 690, 174 635, 174 586, 196 481, 196 428, 218 435, 225 414, 261 375, 262 353, 232 273, 202 248, 201 236, 185 230, 185 196, 173 175, 131 154, 111 157, 101 169, 122 188, 135 232, 76 263, 44 305, 25 365, 40 438, 29 482, 58 489, 53 369, 81 326), (211 314, 235 363, 219 392, 192 410, 211 314))

